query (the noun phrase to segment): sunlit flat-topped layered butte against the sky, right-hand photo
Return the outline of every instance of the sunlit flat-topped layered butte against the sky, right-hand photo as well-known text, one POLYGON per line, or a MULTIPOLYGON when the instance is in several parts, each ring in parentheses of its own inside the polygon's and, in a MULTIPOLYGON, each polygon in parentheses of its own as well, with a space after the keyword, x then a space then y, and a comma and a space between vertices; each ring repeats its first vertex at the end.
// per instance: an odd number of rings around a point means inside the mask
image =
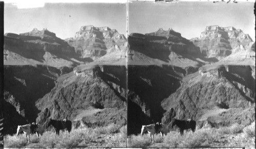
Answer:
POLYGON ((193 38, 190 41, 200 47, 200 51, 205 57, 218 60, 243 50, 253 42, 250 36, 244 34, 240 29, 219 26, 206 27, 200 38, 193 38), (239 47, 241 49, 238 49, 239 47))

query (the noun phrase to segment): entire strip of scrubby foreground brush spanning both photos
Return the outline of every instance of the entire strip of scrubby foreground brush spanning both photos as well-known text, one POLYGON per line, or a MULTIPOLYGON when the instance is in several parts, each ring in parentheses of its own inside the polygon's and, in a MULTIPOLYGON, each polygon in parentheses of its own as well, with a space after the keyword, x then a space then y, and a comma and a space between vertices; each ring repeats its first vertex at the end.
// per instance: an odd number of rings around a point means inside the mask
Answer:
MULTIPOLYGON (((25 135, 7 135, 4 138, 5 147, 13 148, 41 148, 41 147, 126 147, 126 126, 111 124, 107 127, 78 128, 60 133, 45 132, 37 138, 31 135, 31 143, 25 141, 25 135)), ((150 142, 150 136, 131 135, 128 137, 127 147, 255 147, 255 122, 244 127, 234 124, 231 127, 202 128, 195 133, 184 132, 181 136, 178 131, 167 133, 161 137, 155 135, 155 142, 150 142)))

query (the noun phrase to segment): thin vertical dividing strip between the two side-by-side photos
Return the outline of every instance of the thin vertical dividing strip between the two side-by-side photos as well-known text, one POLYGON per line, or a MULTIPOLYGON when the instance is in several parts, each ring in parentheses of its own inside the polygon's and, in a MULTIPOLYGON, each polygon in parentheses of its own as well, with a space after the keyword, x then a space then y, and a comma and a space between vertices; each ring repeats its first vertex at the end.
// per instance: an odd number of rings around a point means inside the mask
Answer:
POLYGON ((127 45, 129 44, 128 43, 128 28, 129 28, 129 0, 127 0, 126 2, 126 40, 127 40, 127 43, 126 43, 126 147, 128 146, 127 145, 127 128, 128 128, 128 47, 127 45))

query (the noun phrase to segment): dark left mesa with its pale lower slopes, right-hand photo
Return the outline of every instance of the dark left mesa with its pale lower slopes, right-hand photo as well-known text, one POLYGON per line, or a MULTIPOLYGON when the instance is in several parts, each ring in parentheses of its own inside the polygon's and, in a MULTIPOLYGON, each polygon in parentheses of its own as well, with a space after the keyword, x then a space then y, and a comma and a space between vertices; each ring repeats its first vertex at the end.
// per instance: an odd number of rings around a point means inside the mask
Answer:
POLYGON ((209 60, 204 59, 199 47, 171 29, 159 29, 154 33, 129 35, 129 65, 175 65, 199 67, 209 60))

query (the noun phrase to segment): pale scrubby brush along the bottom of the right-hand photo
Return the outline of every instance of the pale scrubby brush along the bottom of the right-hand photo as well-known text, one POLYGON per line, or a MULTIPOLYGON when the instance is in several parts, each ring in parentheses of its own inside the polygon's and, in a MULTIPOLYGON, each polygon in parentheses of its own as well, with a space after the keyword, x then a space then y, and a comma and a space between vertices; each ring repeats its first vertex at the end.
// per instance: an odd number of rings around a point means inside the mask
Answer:
POLYGON ((128 147, 255 147, 255 122, 250 126, 244 127, 234 124, 231 127, 202 128, 184 132, 181 136, 178 131, 167 133, 161 137, 155 135, 155 142, 150 142, 148 134, 131 135, 128 137, 128 147))

